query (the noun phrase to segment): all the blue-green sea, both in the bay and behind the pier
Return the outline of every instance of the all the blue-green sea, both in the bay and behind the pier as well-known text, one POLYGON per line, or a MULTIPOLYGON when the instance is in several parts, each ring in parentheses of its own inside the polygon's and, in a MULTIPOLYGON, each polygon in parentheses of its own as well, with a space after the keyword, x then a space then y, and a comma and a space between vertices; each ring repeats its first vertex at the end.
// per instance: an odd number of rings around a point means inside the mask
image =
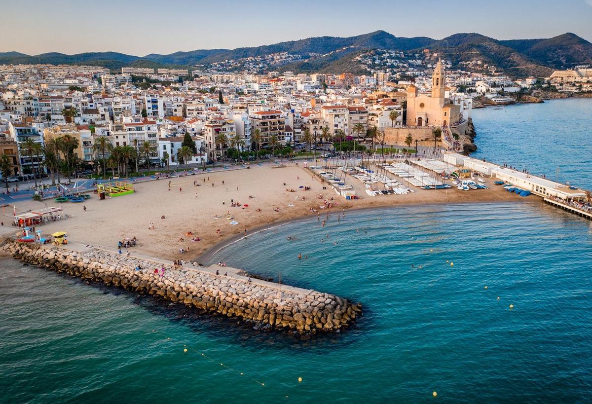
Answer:
MULTIPOLYGON (((592 188, 591 108, 476 110, 475 156, 592 188)), ((312 338, 0 259, 0 402, 590 400, 590 220, 535 198, 338 214, 212 258, 363 304, 312 338)))

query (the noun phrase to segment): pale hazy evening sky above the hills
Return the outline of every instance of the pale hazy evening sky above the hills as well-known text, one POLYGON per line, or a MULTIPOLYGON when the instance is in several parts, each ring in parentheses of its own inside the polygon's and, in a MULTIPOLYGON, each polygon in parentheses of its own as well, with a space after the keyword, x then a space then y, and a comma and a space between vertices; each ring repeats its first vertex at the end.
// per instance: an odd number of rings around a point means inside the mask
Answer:
POLYGON ((592 41, 592 0, 0 0, 0 52, 144 56, 384 30, 442 39, 575 33, 592 41))

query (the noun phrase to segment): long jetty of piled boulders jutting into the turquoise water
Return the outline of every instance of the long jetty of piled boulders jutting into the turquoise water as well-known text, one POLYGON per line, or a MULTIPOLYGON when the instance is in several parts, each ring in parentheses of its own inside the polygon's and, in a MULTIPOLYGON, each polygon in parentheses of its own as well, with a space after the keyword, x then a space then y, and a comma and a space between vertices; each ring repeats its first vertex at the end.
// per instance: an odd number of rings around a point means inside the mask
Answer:
POLYGON ((333 294, 289 286, 279 288, 275 283, 250 281, 235 274, 217 275, 204 267, 173 267, 165 261, 99 248, 73 251, 8 239, 2 249, 21 261, 83 280, 149 293, 202 312, 252 320, 299 334, 340 331, 362 311, 361 304, 352 304, 333 294), (138 266, 141 270, 136 270, 138 266), (165 268, 164 276, 161 268, 165 268))

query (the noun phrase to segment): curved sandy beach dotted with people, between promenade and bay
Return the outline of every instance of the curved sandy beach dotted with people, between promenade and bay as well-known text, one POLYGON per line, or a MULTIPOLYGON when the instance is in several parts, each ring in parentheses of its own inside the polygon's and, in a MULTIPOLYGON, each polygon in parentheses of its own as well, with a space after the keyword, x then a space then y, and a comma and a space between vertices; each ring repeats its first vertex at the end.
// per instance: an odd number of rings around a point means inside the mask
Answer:
MULTIPOLYGON (((99 200, 96 194, 92 194, 85 203, 63 204, 69 219, 50 222, 39 228, 43 230, 43 235, 63 230, 68 233, 70 242, 108 249, 117 249, 118 241, 135 236, 138 243, 130 249, 132 255, 190 261, 195 259, 201 262, 196 257, 205 251, 211 252, 214 246, 222 242, 244 235, 245 229, 248 234, 272 223, 317 216, 317 213, 310 212, 311 207, 320 211, 320 220, 323 220, 326 211, 319 209, 323 206, 323 199, 317 199, 319 194, 327 199, 333 197, 333 202, 337 203, 329 220, 337 220, 337 214, 342 209, 396 207, 401 204, 517 202, 524 199, 496 187, 493 179, 487 180, 490 185, 488 190, 414 188, 415 192, 407 195, 369 197, 363 192, 358 180, 348 178, 348 184, 354 184, 362 197, 360 200, 348 201, 339 197, 331 188, 323 190, 323 185, 327 184, 321 184, 320 179, 313 177, 310 171, 295 166, 294 163, 288 164, 289 166, 277 168, 253 165, 250 169, 172 178, 170 190, 169 179, 159 179, 137 184, 134 194, 105 200, 99 200), (200 186, 194 186, 194 181, 200 186), (304 191, 300 186, 311 189, 304 191), (296 192, 286 191, 286 188, 293 188, 296 192), (254 198, 250 199, 249 195, 254 198), (303 196, 304 201, 301 199, 303 196), (232 207, 231 200, 240 202, 241 206, 232 207), (244 207, 244 204, 249 206, 244 207), (83 205, 86 206, 86 211, 83 211, 83 205), (274 211, 276 207, 279 212, 274 211), (258 208, 261 209, 260 212, 256 211, 258 208), (226 219, 227 211, 233 219, 226 219), (160 219, 162 215, 166 219, 160 219), (216 215, 219 219, 214 219, 216 215), (239 224, 230 225, 232 221, 239 224), (155 229, 149 229, 149 223, 154 223, 155 229), (217 229, 220 229, 220 233, 217 233, 217 229), (192 236, 185 235, 188 231, 193 232, 201 241, 191 242, 192 236), (180 241, 181 238, 184 241, 180 241), (189 251, 181 254, 180 248, 189 251)), ((46 205, 60 207, 53 200, 31 200, 16 204, 17 211, 39 209, 46 205)), ((3 235, 14 235, 17 232, 16 227, 9 226, 11 214, 12 209, 7 207, 3 217, 5 225, 0 229, 3 235)))

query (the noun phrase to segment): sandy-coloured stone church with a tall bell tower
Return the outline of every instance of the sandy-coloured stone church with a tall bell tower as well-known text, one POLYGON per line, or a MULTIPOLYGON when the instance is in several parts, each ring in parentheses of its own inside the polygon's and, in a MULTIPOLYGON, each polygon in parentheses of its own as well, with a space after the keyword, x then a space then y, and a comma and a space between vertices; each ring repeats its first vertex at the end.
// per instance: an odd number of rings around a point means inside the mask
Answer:
POLYGON ((407 87, 407 126, 449 126, 461 119, 460 105, 445 98, 446 72, 439 61, 432 76, 432 94, 417 94, 407 87))

